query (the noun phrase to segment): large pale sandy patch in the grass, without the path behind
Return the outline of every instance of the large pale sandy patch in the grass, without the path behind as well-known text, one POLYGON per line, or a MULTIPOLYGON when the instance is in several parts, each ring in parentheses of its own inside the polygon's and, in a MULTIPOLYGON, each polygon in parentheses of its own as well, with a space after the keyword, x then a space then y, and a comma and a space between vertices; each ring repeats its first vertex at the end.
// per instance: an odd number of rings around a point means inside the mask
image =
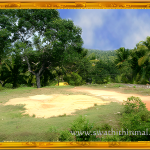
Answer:
POLYGON ((105 105, 110 101, 103 101, 87 95, 35 95, 10 99, 4 105, 25 104, 24 114, 37 118, 49 118, 59 115, 72 115, 76 110, 87 109, 97 105, 105 105))

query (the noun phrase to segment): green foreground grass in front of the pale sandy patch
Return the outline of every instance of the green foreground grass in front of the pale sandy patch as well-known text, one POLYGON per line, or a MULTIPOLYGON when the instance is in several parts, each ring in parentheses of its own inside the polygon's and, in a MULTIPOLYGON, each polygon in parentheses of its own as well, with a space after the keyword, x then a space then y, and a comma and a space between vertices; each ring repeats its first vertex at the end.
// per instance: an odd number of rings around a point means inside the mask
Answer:
POLYGON ((71 123, 78 118, 79 115, 86 116, 90 123, 94 122, 95 129, 105 123, 111 123, 112 127, 119 128, 119 116, 114 114, 121 111, 121 106, 118 103, 111 103, 105 106, 95 106, 85 110, 76 111, 76 115, 52 117, 48 119, 34 118, 28 115, 22 115, 19 111, 24 110, 23 106, 0 106, 0 135, 7 135, 5 141, 29 140, 29 141, 46 141, 48 129, 55 126, 57 129, 69 130, 71 123), (117 108, 117 109, 116 109, 117 108), (11 113, 10 113, 11 111, 11 113), (3 119, 3 120, 2 120, 3 119), (109 121, 112 120, 112 121, 109 121), (26 134, 26 136, 25 136, 26 134), (40 134, 40 136, 38 136, 40 134), (24 136, 21 137, 20 136, 24 136))

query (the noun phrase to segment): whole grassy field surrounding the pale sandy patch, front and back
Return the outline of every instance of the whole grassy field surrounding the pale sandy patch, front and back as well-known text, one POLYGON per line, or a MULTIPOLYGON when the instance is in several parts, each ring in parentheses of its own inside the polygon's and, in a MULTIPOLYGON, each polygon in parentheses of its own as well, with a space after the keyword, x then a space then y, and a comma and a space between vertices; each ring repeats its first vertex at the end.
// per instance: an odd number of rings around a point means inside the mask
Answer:
MULTIPOLYGON (((128 88, 119 84, 106 84, 106 85, 86 85, 82 87, 91 87, 93 89, 105 89, 114 90, 124 93, 139 93, 149 94, 150 89, 140 89, 140 88, 128 88), (105 87, 106 86, 106 87, 105 87)), ((70 130, 71 124, 79 116, 85 116, 89 120, 89 123, 93 124, 93 129, 99 130, 102 126, 113 129, 121 129, 120 118, 121 115, 116 114, 116 112, 122 112, 123 106, 119 105, 117 102, 111 102, 109 105, 101 105, 85 109, 78 110, 76 115, 66 116, 62 115, 59 117, 52 118, 35 118, 29 115, 23 115, 22 112, 25 110, 24 105, 7 105, 6 103, 9 99, 27 97, 33 95, 50 95, 50 94, 87 94, 84 92, 68 92, 66 89, 71 89, 73 86, 51 86, 43 87, 41 89, 24 87, 17 89, 5 89, 0 91, 0 141, 52 141, 57 140, 57 132, 63 130, 70 130), (22 112, 21 112, 22 111, 22 112), (52 132, 55 131, 55 132, 52 132), (53 133, 53 134, 52 134, 53 133)))

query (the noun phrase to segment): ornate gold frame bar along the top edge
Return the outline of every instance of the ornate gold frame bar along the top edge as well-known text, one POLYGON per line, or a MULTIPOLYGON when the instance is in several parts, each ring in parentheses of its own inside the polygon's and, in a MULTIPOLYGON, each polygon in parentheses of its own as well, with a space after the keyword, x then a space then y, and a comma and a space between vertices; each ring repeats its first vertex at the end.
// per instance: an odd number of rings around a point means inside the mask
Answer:
POLYGON ((148 0, 0 0, 0 9, 149 9, 148 0))

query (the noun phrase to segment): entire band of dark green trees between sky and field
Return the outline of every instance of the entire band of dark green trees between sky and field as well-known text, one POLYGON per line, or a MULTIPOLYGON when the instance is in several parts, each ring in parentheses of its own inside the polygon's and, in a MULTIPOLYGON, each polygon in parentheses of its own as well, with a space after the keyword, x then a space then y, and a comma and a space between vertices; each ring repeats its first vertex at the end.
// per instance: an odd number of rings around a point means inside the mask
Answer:
POLYGON ((134 49, 83 48, 82 29, 57 10, 0 10, 0 83, 17 88, 150 82, 150 37, 134 49))

